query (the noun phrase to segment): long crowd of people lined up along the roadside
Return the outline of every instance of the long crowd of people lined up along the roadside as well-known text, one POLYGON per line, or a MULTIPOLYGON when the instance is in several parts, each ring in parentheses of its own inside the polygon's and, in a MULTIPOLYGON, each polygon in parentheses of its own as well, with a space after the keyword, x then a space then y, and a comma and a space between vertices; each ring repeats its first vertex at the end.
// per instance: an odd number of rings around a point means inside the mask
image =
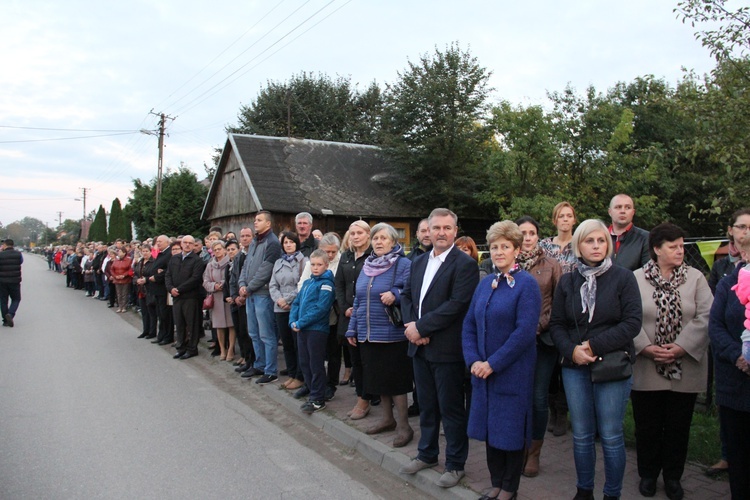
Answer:
POLYGON ((743 341, 750 348, 750 277, 741 273, 750 276, 750 209, 734 214, 730 257, 716 263, 711 286, 685 262, 678 226, 634 226, 625 194, 608 212, 609 225, 579 224, 561 202, 552 214, 557 235, 545 239, 532 217, 497 222, 481 263, 445 208, 419 223, 408 254, 386 223, 360 220, 343 238, 316 236, 303 212, 295 231, 277 237, 272 215, 260 211, 239 238, 212 228, 205 244, 161 235, 49 249, 47 258, 68 286, 117 312, 138 308, 139 338, 173 344, 176 359, 196 356, 210 330, 213 355, 257 384, 285 376, 282 387, 308 414, 351 385, 357 401, 348 417, 364 419, 381 405, 366 432, 395 431, 394 448, 413 440, 409 417, 418 415, 418 454, 402 474, 438 464, 442 432, 437 484, 455 486, 469 438, 484 441, 491 485, 481 500, 515 498, 522 475, 539 475, 545 432, 567 432, 568 414, 574 498, 594 498, 597 438, 604 498, 619 498, 628 401, 640 493, 654 496, 662 476, 667 497, 683 498, 711 345, 722 460, 732 497, 750 498, 750 365, 742 350, 743 341))

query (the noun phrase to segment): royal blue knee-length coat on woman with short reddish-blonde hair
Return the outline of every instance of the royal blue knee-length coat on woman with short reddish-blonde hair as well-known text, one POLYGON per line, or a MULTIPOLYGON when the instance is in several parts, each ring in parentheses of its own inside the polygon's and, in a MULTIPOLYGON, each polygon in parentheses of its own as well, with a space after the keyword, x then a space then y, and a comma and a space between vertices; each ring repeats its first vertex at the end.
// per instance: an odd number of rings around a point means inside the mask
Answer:
POLYGON ((536 329, 542 294, 526 271, 492 288, 495 275, 484 278, 474 292, 463 324, 466 366, 487 361, 493 373, 471 377, 471 412, 467 433, 493 448, 520 450, 531 440, 536 329))

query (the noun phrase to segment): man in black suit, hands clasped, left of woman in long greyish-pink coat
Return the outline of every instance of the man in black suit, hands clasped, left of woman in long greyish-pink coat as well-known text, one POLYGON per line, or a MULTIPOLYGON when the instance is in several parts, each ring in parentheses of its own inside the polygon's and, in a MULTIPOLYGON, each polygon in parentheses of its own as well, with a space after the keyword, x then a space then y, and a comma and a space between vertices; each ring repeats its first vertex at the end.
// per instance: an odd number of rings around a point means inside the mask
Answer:
POLYGON ((193 252, 195 239, 182 237, 182 253, 172 256, 164 282, 174 305, 172 313, 176 328, 177 354, 175 359, 189 359, 198 355, 198 336, 203 332, 201 288, 203 269, 201 258, 193 252))

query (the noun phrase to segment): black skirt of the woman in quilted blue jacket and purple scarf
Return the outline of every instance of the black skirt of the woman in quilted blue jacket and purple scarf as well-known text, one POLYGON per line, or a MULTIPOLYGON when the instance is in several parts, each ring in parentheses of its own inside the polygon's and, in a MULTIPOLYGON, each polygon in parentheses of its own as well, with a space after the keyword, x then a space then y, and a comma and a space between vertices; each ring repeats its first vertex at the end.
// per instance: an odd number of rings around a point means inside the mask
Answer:
POLYGON ((414 390, 409 342, 361 342, 364 392, 397 396, 414 390))

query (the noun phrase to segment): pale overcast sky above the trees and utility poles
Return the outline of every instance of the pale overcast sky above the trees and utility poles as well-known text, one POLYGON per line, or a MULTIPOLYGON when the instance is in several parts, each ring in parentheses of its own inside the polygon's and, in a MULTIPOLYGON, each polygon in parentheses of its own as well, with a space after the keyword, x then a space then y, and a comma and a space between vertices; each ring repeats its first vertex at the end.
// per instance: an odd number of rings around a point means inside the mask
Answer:
POLYGON ((240 105, 301 71, 394 82, 409 59, 458 41, 493 72, 493 100, 547 104, 567 83, 606 91, 713 61, 669 0, 159 0, 0 2, 0 222, 57 225, 123 205, 165 168, 205 176, 240 105), (37 130, 60 129, 60 130, 37 130), (80 130, 80 132, 71 131, 80 130), (112 135, 119 134, 119 135, 112 135), (100 137, 94 137, 100 136, 100 137), (104 136, 104 137, 101 137, 104 136), (70 139, 72 137, 85 137, 70 139), (61 140, 58 140, 61 139, 61 140))

